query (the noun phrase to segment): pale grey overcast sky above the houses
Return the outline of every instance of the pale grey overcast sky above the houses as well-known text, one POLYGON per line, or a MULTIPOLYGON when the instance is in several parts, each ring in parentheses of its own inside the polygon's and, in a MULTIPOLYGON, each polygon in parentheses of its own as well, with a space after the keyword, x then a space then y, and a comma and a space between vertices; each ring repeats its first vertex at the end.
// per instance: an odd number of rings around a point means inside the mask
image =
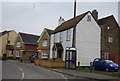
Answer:
MULTIPOLYGON (((110 1, 110 0, 109 0, 110 1)), ((114 15, 118 21, 118 1, 113 2, 77 2, 77 15, 97 9, 99 18, 114 15)), ((73 18, 73 1, 2 1, 0 3, 0 31, 40 35, 44 28, 55 29, 59 17, 65 21, 73 18)))

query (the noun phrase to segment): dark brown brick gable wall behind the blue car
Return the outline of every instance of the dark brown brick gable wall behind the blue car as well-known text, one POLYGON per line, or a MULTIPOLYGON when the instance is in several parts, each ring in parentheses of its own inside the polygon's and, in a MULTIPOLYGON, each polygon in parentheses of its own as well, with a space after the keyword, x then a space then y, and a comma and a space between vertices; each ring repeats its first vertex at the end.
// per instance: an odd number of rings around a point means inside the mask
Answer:
MULTIPOLYGON (((111 54, 120 54, 120 32, 118 25, 113 17, 109 18, 105 24, 101 26, 101 54, 108 53, 111 54), (109 26, 109 29, 108 29, 109 26), (113 41, 108 42, 108 37, 112 36, 113 41)), ((111 58, 111 57, 110 57, 111 58)), ((109 59, 110 59, 109 58, 109 59)))

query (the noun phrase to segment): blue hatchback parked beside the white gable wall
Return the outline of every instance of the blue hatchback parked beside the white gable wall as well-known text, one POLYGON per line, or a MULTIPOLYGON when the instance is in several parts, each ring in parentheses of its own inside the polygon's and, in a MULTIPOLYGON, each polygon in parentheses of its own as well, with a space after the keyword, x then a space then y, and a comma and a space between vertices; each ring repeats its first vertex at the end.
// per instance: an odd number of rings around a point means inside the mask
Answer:
POLYGON ((92 65, 93 69, 104 70, 104 71, 118 71, 119 65, 111 60, 104 58, 95 58, 92 65))

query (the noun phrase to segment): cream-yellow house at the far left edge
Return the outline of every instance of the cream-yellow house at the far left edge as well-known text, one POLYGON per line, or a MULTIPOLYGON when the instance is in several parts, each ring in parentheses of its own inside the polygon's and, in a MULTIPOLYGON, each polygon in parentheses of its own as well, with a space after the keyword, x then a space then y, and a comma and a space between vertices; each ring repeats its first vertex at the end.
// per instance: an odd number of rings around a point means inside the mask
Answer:
POLYGON ((0 33, 0 57, 13 58, 14 41, 17 33, 14 30, 0 33))

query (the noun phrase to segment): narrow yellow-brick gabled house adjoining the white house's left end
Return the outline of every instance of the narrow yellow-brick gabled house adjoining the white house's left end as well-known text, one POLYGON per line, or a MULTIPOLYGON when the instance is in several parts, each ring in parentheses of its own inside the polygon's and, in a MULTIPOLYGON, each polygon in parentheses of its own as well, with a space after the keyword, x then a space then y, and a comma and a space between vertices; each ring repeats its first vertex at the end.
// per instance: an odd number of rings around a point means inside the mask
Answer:
POLYGON ((44 28, 42 34, 40 35, 38 42, 39 57, 41 59, 48 59, 50 55, 50 35, 53 30, 44 28))

